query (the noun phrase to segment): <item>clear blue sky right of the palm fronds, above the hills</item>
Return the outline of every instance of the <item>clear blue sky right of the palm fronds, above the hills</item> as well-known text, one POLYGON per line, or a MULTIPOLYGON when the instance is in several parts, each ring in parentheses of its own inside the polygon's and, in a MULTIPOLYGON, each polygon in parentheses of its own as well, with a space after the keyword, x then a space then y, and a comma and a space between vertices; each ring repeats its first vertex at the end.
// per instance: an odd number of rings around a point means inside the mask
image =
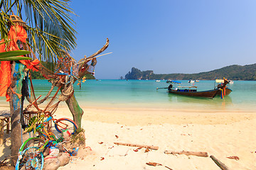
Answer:
POLYGON ((73 57, 110 46, 97 79, 119 79, 132 67, 155 74, 198 73, 256 63, 255 0, 73 0, 78 31, 73 57))

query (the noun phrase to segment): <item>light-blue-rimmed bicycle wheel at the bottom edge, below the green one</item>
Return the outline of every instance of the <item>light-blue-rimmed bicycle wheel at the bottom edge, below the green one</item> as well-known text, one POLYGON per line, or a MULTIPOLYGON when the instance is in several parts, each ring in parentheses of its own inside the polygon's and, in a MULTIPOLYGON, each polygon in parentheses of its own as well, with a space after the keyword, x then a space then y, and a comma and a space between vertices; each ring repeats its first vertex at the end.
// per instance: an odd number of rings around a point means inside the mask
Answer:
POLYGON ((28 147, 18 155, 15 170, 41 170, 43 169, 43 153, 38 147, 28 147))

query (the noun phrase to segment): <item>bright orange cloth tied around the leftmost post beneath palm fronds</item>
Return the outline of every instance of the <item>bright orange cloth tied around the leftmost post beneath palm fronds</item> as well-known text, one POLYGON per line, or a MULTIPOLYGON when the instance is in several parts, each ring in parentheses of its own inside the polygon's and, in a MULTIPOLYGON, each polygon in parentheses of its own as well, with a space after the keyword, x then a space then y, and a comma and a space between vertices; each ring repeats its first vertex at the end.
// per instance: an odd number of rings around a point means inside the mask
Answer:
MULTIPOLYGON (((14 51, 20 50, 17 45, 17 41, 26 42, 26 38, 28 37, 26 30, 22 26, 11 26, 9 30, 8 39, 10 40, 9 45, 1 44, 0 52, 5 51, 14 51), (5 49, 6 48, 6 49, 5 49)), ((4 42, 1 40, 0 42, 4 42)), ((19 56, 22 57, 22 56, 19 56)), ((33 66, 39 63, 39 60, 34 60, 31 62, 30 60, 20 60, 20 62, 28 69, 32 69, 33 71, 38 71, 33 66)), ((9 95, 6 93, 8 87, 11 85, 11 64, 9 61, 1 62, 1 70, 0 70, 0 96, 6 96, 6 101, 9 101, 9 95)))

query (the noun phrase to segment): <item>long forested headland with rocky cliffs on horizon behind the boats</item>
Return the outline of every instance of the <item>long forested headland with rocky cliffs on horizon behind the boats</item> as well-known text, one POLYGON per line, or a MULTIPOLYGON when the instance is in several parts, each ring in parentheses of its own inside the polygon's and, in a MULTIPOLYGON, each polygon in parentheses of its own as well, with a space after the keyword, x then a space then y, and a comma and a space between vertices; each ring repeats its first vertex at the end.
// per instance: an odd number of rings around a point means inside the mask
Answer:
POLYGON ((196 74, 154 74, 152 70, 140 71, 132 68, 132 72, 125 75, 125 79, 200 79, 213 80, 222 79, 223 77, 232 80, 255 80, 256 81, 256 64, 245 66, 230 65, 221 69, 215 69, 210 72, 201 72, 196 74))

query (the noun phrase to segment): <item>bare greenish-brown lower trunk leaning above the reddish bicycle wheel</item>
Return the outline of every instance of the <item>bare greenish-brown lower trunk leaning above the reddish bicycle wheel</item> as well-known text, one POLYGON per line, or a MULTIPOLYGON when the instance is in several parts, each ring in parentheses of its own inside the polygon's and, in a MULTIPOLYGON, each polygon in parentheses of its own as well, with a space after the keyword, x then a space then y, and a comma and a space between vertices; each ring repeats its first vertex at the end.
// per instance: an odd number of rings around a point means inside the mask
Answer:
POLYGON ((72 94, 70 98, 68 98, 68 100, 65 102, 67 103, 68 108, 73 115, 73 120, 78 125, 78 128, 81 128, 81 120, 84 111, 82 111, 82 108, 80 108, 78 101, 75 98, 75 94, 72 94))

